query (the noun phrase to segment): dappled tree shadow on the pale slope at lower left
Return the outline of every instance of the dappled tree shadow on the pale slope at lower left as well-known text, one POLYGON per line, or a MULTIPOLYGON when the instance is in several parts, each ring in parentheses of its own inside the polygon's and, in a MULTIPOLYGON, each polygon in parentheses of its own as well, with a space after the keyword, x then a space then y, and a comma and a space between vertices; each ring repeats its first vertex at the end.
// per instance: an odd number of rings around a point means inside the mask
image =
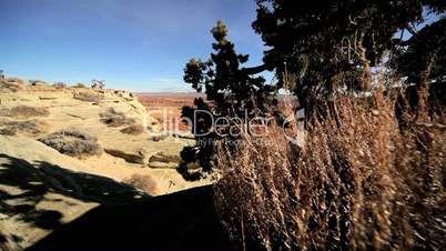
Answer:
MULTIPOLYGON (((73 172, 44 161, 30 163, 3 153, 0 153, 0 184, 8 188, 0 190, 0 213, 43 230, 61 227, 63 214, 58 210, 38 207, 40 202, 63 202, 67 203, 65 207, 73 205, 69 201, 50 200, 45 197, 49 193, 108 205, 150 198, 109 178, 73 172)), ((20 235, 2 233, 0 247, 6 245, 8 240, 20 242, 21 239, 20 235)))

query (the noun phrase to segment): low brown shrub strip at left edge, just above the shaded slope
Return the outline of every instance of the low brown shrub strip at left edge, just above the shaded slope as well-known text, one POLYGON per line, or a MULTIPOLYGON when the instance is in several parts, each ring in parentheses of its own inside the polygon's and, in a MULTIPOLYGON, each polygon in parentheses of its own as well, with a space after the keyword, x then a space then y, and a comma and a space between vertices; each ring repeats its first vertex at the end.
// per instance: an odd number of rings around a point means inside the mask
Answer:
POLYGON ((0 134, 16 134, 22 132, 27 134, 40 134, 47 132, 49 124, 43 121, 27 120, 27 121, 0 121, 2 127, 0 134))

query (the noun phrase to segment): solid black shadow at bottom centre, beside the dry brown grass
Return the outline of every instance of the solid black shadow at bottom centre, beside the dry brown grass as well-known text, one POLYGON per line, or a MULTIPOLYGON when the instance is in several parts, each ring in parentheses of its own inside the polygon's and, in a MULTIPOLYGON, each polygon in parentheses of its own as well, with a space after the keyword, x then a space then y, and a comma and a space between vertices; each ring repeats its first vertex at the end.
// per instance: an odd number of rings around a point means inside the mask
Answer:
POLYGON ((202 187, 123 205, 98 207, 28 251, 234 250, 202 187))

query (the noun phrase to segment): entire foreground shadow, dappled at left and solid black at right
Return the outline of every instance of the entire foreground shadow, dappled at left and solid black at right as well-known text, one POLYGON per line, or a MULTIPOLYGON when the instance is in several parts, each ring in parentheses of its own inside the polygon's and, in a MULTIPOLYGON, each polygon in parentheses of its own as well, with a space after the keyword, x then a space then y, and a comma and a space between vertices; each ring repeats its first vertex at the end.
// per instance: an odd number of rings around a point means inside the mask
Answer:
MULTIPOLYGON (((30 251, 233 250, 215 215, 212 187, 150 198, 112 179, 1 153, 0 184, 20 191, 0 190, 1 213, 52 230, 30 251), (62 212, 37 207, 41 201, 61 202, 48 193, 100 205, 63 224, 62 212)), ((0 249, 9 250, 11 241, 22 242, 24 237, 18 234, 0 233, 0 249)))

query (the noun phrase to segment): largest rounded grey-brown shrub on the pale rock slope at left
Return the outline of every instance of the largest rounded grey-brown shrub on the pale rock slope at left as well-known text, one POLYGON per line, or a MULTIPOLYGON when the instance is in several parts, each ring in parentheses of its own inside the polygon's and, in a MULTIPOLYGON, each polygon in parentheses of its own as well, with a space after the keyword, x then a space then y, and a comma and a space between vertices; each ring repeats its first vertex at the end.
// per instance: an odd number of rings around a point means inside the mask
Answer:
POLYGON ((61 130, 39 139, 40 142, 72 157, 99 155, 98 139, 78 130, 61 130))

